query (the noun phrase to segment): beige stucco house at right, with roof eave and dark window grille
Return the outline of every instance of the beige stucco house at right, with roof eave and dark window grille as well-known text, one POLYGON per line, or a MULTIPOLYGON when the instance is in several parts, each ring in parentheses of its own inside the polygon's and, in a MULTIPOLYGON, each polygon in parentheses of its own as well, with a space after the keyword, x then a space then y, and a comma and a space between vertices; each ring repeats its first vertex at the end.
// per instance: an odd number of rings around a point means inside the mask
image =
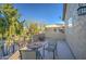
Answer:
POLYGON ((86 59, 86 4, 63 4, 65 36, 76 59, 86 59))

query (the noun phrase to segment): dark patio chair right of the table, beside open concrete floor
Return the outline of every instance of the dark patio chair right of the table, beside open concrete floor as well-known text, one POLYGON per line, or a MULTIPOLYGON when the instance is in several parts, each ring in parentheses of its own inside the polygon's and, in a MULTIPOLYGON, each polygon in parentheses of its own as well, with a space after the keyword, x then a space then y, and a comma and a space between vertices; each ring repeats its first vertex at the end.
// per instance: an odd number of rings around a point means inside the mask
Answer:
POLYGON ((54 41, 49 41, 48 47, 46 47, 46 48, 44 47, 44 50, 46 50, 48 52, 53 52, 53 60, 54 60, 56 59, 56 52, 57 52, 57 41, 56 40, 54 41))

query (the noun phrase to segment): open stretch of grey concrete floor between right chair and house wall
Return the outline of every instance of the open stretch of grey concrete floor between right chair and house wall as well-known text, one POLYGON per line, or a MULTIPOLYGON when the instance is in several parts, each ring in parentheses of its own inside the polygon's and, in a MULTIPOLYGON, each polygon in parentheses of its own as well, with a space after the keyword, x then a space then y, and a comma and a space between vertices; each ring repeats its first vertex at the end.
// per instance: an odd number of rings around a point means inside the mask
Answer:
POLYGON ((60 60, 74 59, 69 46, 66 44, 66 41, 58 41, 57 52, 58 52, 58 59, 60 60))

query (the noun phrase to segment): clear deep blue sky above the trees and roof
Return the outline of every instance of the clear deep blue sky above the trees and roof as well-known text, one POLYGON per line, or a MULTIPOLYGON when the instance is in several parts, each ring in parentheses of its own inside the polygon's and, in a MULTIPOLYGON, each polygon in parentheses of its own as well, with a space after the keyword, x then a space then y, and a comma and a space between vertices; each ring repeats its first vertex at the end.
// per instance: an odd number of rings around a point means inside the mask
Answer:
POLYGON ((61 3, 16 3, 14 7, 22 14, 21 20, 38 21, 45 24, 61 22, 63 5, 61 3))

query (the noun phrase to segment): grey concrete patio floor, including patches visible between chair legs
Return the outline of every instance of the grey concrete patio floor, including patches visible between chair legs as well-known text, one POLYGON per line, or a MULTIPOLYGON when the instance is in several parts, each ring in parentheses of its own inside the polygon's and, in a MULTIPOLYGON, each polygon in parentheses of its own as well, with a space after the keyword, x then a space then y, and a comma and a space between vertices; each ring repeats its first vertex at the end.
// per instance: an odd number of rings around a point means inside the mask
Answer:
MULTIPOLYGON (((72 55, 71 50, 65 41, 58 40, 57 44, 58 46, 57 46, 56 60, 74 60, 74 56, 72 55)), ((40 52, 42 54, 42 48, 40 49, 40 52)), ((52 60, 52 59, 53 59, 53 53, 45 51, 44 60, 52 60)))

